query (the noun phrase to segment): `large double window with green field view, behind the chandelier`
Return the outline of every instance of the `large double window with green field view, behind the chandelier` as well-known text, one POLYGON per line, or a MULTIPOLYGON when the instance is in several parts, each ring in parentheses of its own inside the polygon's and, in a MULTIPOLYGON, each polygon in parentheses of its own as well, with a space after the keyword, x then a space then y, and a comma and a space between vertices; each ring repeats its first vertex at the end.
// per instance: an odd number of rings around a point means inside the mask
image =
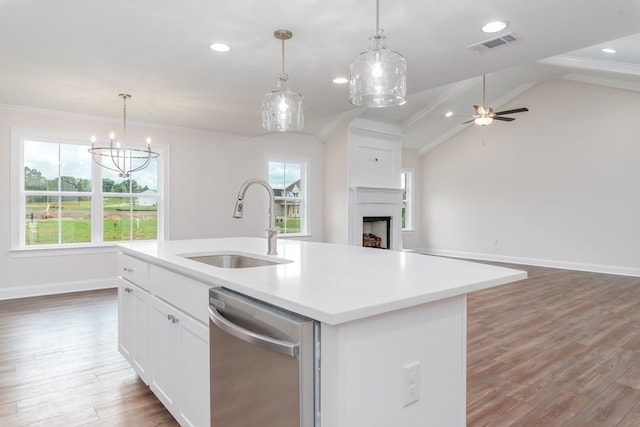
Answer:
POLYGON ((155 240, 161 234, 162 156, 121 178, 93 162, 88 141, 14 133, 14 249, 155 240))

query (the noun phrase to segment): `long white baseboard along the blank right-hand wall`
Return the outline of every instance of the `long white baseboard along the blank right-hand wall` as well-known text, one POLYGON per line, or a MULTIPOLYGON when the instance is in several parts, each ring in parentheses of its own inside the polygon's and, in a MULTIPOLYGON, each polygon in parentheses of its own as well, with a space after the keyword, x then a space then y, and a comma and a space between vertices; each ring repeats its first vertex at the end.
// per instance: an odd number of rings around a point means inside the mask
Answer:
POLYGON ((640 268, 619 267, 614 265, 584 264, 568 261, 555 261, 538 258, 523 258, 508 255, 482 254, 477 252, 449 251, 443 249, 415 248, 408 249, 425 255, 437 255, 450 258, 466 258, 478 261, 505 262, 508 264, 535 265, 538 267, 561 268, 564 270, 590 271, 593 273, 617 274, 620 276, 640 277, 640 268))

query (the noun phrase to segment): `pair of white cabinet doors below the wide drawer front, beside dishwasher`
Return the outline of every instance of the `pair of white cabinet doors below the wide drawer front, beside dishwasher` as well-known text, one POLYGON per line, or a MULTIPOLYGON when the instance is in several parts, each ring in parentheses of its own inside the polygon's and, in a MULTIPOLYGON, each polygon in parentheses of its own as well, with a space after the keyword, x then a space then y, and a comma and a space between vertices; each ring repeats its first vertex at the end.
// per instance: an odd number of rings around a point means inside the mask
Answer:
POLYGON ((151 390, 183 426, 209 425, 209 330, 153 298, 151 390))

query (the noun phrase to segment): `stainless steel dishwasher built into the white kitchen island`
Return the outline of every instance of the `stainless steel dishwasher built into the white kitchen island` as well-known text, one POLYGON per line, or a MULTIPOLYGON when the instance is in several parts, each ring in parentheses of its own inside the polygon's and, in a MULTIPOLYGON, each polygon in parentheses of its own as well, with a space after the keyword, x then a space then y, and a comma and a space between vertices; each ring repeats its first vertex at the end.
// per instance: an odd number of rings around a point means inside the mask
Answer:
POLYGON ((211 427, 319 427, 319 323, 209 291, 211 427))

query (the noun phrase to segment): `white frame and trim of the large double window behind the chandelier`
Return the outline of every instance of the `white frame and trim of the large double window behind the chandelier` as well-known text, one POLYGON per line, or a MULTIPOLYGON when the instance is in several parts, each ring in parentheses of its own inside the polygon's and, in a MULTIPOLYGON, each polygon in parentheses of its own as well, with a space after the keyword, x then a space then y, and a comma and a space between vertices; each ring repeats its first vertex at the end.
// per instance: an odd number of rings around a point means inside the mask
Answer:
MULTIPOLYGON (((47 254, 74 254, 84 253, 86 250, 112 251, 113 246, 118 243, 129 242, 130 240, 103 241, 103 200, 115 193, 103 193, 102 191, 102 168, 91 162, 92 188, 89 192, 62 192, 65 196, 82 196, 91 198, 91 242, 82 243, 57 243, 57 244, 26 244, 26 196, 25 190, 25 141, 41 141, 66 145, 81 145, 90 147, 91 142, 86 135, 64 133, 57 131, 43 131, 26 128, 11 128, 11 252, 23 254, 25 256, 38 256, 47 254)), ((161 241, 168 238, 168 170, 169 170, 169 149, 164 143, 153 144, 154 151, 160 154, 158 158, 158 203, 157 203, 157 230, 155 240, 139 241, 161 241)), ((135 174, 133 178, 135 179, 135 174)), ((60 188, 58 189, 60 193, 60 188)), ((118 196, 128 197, 130 193, 118 193, 118 196)), ((139 197, 138 193, 134 197, 139 197)))

